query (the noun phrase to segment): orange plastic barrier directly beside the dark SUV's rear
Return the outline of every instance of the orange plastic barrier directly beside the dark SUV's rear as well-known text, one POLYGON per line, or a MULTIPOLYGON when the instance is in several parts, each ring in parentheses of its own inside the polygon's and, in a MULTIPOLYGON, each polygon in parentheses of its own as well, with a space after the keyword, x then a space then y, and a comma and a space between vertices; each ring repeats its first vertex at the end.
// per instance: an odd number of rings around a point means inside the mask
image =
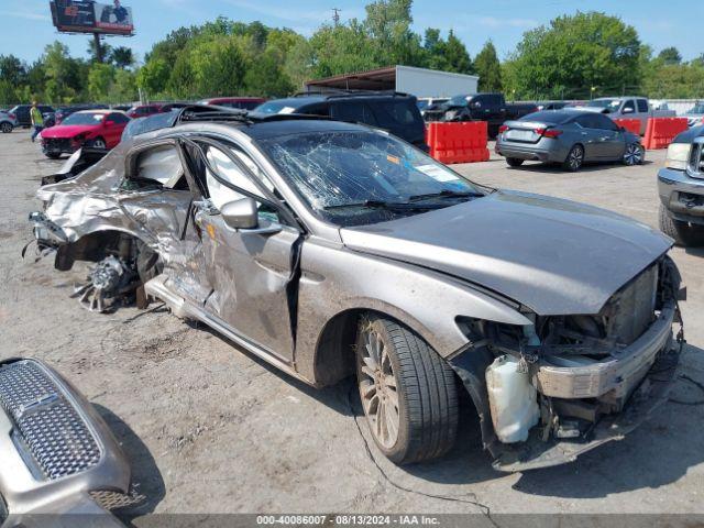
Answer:
POLYGON ((430 155, 440 163, 488 161, 486 121, 462 121, 428 124, 426 142, 430 155))

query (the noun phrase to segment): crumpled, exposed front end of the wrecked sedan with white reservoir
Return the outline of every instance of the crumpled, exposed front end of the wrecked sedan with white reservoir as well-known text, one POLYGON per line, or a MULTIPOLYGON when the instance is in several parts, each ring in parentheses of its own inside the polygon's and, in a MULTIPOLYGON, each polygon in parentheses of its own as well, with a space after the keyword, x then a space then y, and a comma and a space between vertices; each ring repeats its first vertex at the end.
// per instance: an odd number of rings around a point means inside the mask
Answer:
POLYGON ((530 327, 465 321, 472 346, 451 365, 477 407, 495 469, 571 462, 652 416, 676 378, 680 282, 663 257, 597 315, 531 316, 530 327))

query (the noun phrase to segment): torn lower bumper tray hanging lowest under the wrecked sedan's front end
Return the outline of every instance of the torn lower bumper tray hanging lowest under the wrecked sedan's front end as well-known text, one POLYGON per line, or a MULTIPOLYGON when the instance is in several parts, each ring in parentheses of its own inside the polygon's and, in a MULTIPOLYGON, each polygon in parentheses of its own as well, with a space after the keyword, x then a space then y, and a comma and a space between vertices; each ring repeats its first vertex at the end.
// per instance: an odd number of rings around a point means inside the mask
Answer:
POLYGON ((573 462, 580 454, 624 437, 647 420, 667 402, 680 364, 680 348, 663 350, 630 396, 626 407, 616 415, 602 418, 585 440, 543 441, 540 428, 532 429, 526 442, 509 447, 494 461, 494 469, 505 472, 527 471, 573 462))

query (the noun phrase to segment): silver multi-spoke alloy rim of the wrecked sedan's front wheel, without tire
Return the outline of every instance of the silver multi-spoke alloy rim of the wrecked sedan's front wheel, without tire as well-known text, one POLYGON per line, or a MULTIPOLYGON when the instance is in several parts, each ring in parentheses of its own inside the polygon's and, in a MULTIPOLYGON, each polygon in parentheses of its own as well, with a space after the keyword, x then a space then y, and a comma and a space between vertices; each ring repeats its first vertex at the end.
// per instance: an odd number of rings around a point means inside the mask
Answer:
POLYGON ((391 449, 398 440, 400 413, 396 376, 387 346, 374 330, 364 330, 364 350, 358 354, 360 397, 376 441, 391 449))

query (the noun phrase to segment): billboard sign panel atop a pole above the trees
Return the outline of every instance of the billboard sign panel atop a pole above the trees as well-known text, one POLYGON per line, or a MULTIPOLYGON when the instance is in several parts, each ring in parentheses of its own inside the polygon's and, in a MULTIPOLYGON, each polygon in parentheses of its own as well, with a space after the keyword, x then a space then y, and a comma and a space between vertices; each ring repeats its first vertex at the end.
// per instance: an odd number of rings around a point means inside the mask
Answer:
POLYGON ((51 0, 52 20, 58 31, 131 35, 134 32, 132 8, 120 0, 111 3, 92 0, 51 0))

